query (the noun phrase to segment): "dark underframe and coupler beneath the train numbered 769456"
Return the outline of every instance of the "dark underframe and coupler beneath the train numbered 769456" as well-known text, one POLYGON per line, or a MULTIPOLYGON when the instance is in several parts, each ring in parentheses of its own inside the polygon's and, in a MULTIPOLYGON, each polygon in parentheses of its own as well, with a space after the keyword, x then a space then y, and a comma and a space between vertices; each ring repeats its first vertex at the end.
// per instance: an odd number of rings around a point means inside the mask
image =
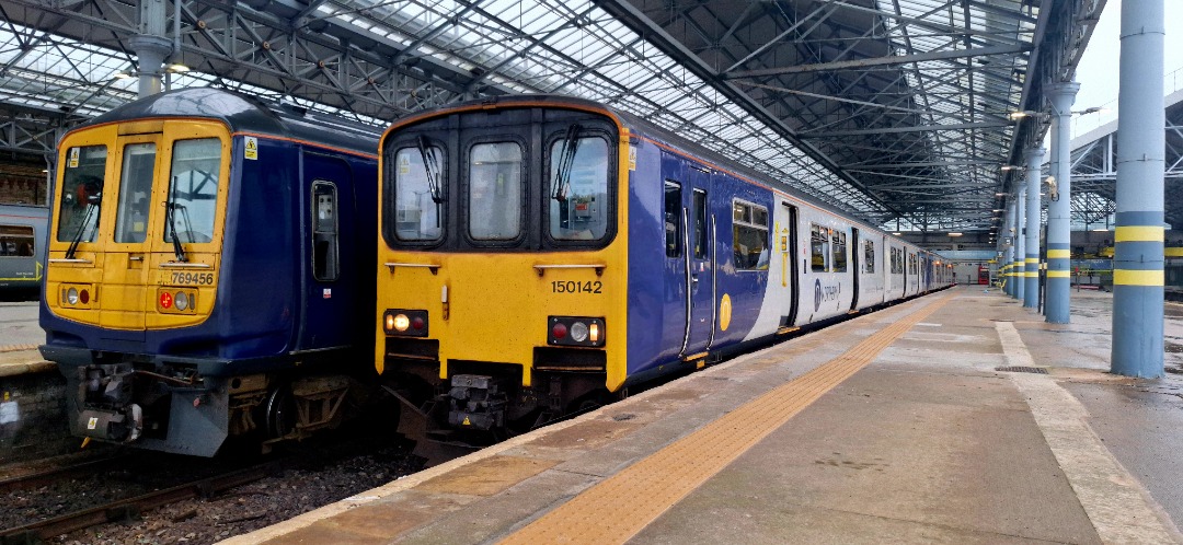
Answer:
MULTIPOLYGON (((231 437, 263 452, 338 426, 361 384, 347 375, 214 375, 225 362, 156 362, 97 352, 60 363, 75 435, 153 450, 213 456, 231 437)), ((60 358, 59 362, 69 358, 60 358)))

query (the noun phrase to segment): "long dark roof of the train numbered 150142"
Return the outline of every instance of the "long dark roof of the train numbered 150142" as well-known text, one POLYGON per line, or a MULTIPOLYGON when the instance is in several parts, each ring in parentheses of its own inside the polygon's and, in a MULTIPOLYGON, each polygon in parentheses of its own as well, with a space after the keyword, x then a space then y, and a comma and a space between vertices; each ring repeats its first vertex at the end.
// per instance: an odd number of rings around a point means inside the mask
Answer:
MULTIPOLYGON (((702 144, 692 142, 689 138, 679 136, 675 132, 658 126, 657 124, 651 123, 649 121, 640 116, 635 116, 633 113, 613 108, 609 104, 590 100, 587 98, 569 97, 565 95, 505 95, 498 97, 486 97, 477 100, 457 103, 448 106, 438 108, 435 110, 416 113, 402 119, 397 119, 395 122, 395 125, 401 125, 403 123, 415 123, 421 119, 445 113, 450 110, 467 109, 476 106, 515 108, 517 105, 521 105, 523 108, 526 108, 538 104, 554 105, 556 108, 575 108, 575 109, 607 111, 610 115, 619 118, 625 124, 625 126, 628 126, 629 131, 636 134, 638 136, 645 136, 655 140, 658 142, 661 142, 666 145, 670 145, 672 148, 684 150, 696 157, 699 157, 700 160, 707 163, 719 166, 720 168, 724 168, 730 173, 738 174, 745 179, 768 184, 769 187, 772 187, 778 192, 791 195, 794 199, 799 199, 817 208, 830 210, 834 212, 835 214, 848 218, 848 214, 833 210, 832 205, 822 202, 821 200, 812 195, 808 195, 804 192, 801 192, 800 189, 794 188, 791 184, 787 182, 774 180, 768 174, 759 173, 755 169, 738 164, 735 160, 728 158, 723 154, 710 150, 702 144)), ((874 231, 883 231, 879 227, 867 222, 861 218, 854 218, 853 220, 864 223, 866 227, 870 227, 874 231)))

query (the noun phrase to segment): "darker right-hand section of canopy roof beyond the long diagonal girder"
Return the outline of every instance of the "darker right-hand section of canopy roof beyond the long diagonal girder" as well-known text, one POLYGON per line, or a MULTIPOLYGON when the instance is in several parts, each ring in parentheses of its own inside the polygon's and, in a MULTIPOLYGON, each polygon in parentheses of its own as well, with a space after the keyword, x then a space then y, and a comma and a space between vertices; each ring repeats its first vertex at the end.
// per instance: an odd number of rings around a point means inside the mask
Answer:
MULTIPOLYGON (((597 0, 881 206, 883 225, 990 227, 1000 167, 1046 126, 1104 1, 597 0), (1054 32, 1053 32, 1054 31, 1054 32), (665 45, 662 45, 665 44, 665 45), (1021 142, 1015 144, 1016 138, 1021 142), (907 183, 907 190, 898 189, 907 183), (955 195, 965 208, 949 208, 955 195)), ((906 227, 905 227, 906 228, 906 227)))

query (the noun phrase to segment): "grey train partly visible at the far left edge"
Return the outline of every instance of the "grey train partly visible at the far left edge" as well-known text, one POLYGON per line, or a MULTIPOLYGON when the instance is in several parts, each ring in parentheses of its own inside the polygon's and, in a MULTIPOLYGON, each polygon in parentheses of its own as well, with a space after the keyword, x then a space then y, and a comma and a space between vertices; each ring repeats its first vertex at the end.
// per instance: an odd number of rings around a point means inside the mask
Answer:
POLYGON ((35 293, 45 264, 49 208, 0 205, 0 290, 35 293))

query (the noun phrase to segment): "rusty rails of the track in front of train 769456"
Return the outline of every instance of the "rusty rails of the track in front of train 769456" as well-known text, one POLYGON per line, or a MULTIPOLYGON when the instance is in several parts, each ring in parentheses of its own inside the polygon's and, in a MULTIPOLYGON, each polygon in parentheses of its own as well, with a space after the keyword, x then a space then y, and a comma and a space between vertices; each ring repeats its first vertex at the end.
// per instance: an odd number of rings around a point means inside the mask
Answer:
MULTIPOLYGON (((110 460, 99 460, 96 461, 96 463, 97 462, 109 463, 110 460)), ((90 526, 112 521, 131 520, 137 518, 142 512, 176 501, 198 497, 209 498, 219 492, 263 479, 273 472, 274 466, 276 462, 267 462, 246 469, 237 469, 220 475, 186 482, 183 485, 149 492, 135 498, 121 499, 60 517, 0 530, 0 545, 43 543, 54 536, 83 530, 90 526)), ((63 469, 67 472, 84 472, 93 471, 93 467, 84 469, 79 466, 73 466, 63 469)), ((2 487, 5 482, 9 481, 25 487, 38 486, 38 482, 46 482, 51 479, 62 479, 63 475, 69 474, 64 473, 64 471, 44 472, 43 474, 9 479, 0 482, 0 487, 2 487)))

